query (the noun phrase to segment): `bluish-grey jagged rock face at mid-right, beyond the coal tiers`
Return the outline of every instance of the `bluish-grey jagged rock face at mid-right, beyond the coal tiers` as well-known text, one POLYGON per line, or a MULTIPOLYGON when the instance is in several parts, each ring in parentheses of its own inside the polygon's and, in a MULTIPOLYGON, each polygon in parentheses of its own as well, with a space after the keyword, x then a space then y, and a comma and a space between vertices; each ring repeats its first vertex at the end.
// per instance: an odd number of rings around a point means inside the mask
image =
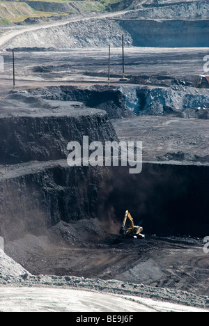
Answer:
POLYGON ((208 119, 207 90, 185 86, 148 88, 121 86, 125 107, 139 116, 164 116, 208 119))

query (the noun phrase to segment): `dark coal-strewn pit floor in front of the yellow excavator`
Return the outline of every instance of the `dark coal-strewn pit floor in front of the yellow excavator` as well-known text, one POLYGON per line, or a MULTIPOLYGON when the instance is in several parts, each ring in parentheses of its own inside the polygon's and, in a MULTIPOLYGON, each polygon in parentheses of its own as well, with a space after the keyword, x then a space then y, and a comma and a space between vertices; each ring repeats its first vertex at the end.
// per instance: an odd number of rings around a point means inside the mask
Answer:
POLYGON ((134 240, 113 234, 82 245, 56 240, 26 235, 8 242, 5 251, 31 274, 116 279, 209 295, 203 240, 156 235, 134 240))

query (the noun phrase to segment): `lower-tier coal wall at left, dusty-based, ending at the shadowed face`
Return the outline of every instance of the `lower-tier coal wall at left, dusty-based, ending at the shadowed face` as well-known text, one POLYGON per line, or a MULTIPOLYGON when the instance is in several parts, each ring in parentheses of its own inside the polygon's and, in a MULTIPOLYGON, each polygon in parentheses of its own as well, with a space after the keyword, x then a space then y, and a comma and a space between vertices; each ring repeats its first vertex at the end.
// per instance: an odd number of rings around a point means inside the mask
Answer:
POLYGON ((97 167, 69 168, 65 161, 1 169, 1 236, 7 242, 42 235, 60 221, 97 217, 102 173, 97 167))

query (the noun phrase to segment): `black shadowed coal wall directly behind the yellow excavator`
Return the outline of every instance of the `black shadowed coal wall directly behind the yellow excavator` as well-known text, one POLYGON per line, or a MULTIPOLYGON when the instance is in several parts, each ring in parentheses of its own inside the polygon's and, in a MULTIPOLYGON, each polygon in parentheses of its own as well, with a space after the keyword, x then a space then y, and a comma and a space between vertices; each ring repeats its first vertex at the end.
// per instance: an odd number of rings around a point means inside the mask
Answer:
POLYGON ((145 233, 203 236, 208 204, 202 166, 144 164, 139 175, 124 167, 109 169, 99 196, 100 220, 118 231, 125 210, 145 233))

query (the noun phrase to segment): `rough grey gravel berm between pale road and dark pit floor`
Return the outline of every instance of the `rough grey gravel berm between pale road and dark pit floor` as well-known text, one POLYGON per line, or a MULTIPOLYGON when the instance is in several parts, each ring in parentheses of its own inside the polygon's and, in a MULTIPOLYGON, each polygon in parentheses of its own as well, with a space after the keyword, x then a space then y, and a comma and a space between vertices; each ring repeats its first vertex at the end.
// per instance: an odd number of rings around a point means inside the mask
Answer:
MULTIPOLYGON (((131 284, 123 281, 102 279, 84 279, 84 277, 59 277, 55 275, 31 275, 19 264, 0 250, 0 292, 5 294, 5 289, 15 287, 19 293, 19 288, 60 288, 73 290, 86 290, 97 293, 111 293, 114 295, 128 295, 133 297, 144 297, 185 306, 194 306, 209 311, 209 298, 207 296, 193 295, 179 290, 169 290, 166 288, 152 288, 143 284, 131 284), (18 289, 17 289, 18 288, 18 289)), ((42 291, 42 290, 41 290, 42 291)), ((47 290, 48 291, 48 290, 47 290)), ((21 292, 21 291, 20 291, 21 292)), ((44 290, 45 293, 45 290, 44 290)), ((0 294, 1 301, 5 300, 0 294), (3 298, 3 299, 2 299, 3 298)))

